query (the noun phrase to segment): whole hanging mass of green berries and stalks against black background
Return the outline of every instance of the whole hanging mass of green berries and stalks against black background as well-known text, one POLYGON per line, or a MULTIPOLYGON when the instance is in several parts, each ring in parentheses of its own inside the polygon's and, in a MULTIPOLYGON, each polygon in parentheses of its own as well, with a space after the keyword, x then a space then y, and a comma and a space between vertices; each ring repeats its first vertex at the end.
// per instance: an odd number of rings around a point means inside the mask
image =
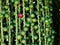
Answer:
POLYGON ((1 45, 53 45, 52 0, 0 0, 1 45))

